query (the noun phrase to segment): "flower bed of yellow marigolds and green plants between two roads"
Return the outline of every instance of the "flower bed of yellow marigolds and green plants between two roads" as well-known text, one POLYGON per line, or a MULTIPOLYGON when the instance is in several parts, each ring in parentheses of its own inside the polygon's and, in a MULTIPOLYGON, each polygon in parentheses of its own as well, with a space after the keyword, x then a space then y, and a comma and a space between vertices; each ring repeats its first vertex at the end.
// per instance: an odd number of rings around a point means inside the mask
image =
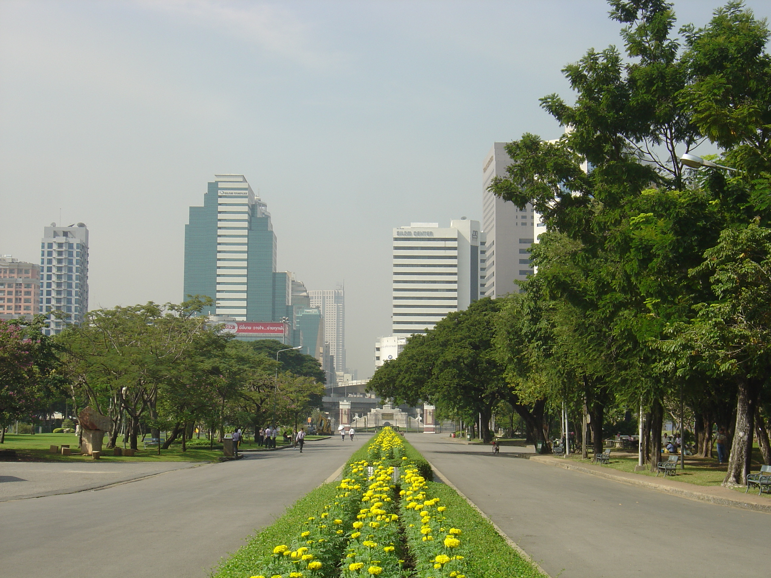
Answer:
POLYGON ((453 509, 465 503, 449 500, 454 506, 447 506, 446 498, 432 495, 441 492, 439 485, 426 481, 418 460, 410 459, 415 450, 390 428, 375 436, 366 455, 369 459, 346 465, 334 498, 295 523, 271 553, 224 563, 215 576, 466 578, 475 564, 464 533, 476 526, 458 522, 467 512, 453 518, 453 509))

